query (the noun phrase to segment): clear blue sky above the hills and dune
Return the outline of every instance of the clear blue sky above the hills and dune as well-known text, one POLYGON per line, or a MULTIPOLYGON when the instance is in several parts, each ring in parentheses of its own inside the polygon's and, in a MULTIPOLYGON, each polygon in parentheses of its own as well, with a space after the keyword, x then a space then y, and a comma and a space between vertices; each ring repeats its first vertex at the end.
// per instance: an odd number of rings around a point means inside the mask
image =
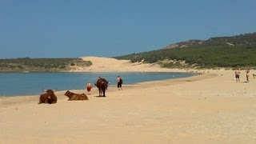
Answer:
POLYGON ((254 0, 0 0, 0 58, 113 57, 256 32, 254 0))

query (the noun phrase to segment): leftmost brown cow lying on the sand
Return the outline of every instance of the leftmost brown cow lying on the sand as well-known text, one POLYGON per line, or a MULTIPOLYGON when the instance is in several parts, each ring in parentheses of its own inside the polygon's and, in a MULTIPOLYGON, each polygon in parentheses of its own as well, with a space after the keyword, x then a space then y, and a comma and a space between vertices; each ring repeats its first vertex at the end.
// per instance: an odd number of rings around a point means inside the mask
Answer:
POLYGON ((56 102, 57 102, 57 97, 54 94, 54 90, 46 90, 45 94, 40 95, 38 104, 41 104, 41 103, 52 104, 52 103, 56 103, 56 102))

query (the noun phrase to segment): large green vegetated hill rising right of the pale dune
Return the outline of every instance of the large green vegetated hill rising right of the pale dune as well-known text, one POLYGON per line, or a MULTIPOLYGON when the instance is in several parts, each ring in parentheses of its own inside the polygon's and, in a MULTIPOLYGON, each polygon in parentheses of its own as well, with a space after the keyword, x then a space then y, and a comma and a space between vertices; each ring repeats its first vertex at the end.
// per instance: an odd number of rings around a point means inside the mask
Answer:
POLYGON ((161 50, 115 57, 131 62, 158 63, 169 68, 256 67, 256 33, 190 40, 161 50))

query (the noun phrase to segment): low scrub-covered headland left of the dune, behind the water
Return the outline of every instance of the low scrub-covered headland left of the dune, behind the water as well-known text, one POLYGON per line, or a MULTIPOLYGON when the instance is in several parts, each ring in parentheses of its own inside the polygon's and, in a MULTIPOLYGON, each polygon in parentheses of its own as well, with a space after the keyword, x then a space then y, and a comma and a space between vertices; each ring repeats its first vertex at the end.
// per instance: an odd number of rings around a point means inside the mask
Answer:
POLYGON ((92 65, 90 61, 84 61, 82 58, 0 59, 0 72, 57 72, 90 65, 92 65))

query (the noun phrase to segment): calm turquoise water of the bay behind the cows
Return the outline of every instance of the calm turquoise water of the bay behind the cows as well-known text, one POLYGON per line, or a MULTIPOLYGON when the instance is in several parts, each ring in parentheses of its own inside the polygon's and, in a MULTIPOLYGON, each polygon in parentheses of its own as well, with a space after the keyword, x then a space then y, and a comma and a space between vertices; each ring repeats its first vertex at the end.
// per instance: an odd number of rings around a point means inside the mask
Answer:
POLYGON ((0 96, 42 94, 43 90, 81 90, 90 81, 93 85, 98 77, 106 78, 115 86, 120 75, 123 85, 170 78, 185 78, 190 73, 0 73, 0 96))

